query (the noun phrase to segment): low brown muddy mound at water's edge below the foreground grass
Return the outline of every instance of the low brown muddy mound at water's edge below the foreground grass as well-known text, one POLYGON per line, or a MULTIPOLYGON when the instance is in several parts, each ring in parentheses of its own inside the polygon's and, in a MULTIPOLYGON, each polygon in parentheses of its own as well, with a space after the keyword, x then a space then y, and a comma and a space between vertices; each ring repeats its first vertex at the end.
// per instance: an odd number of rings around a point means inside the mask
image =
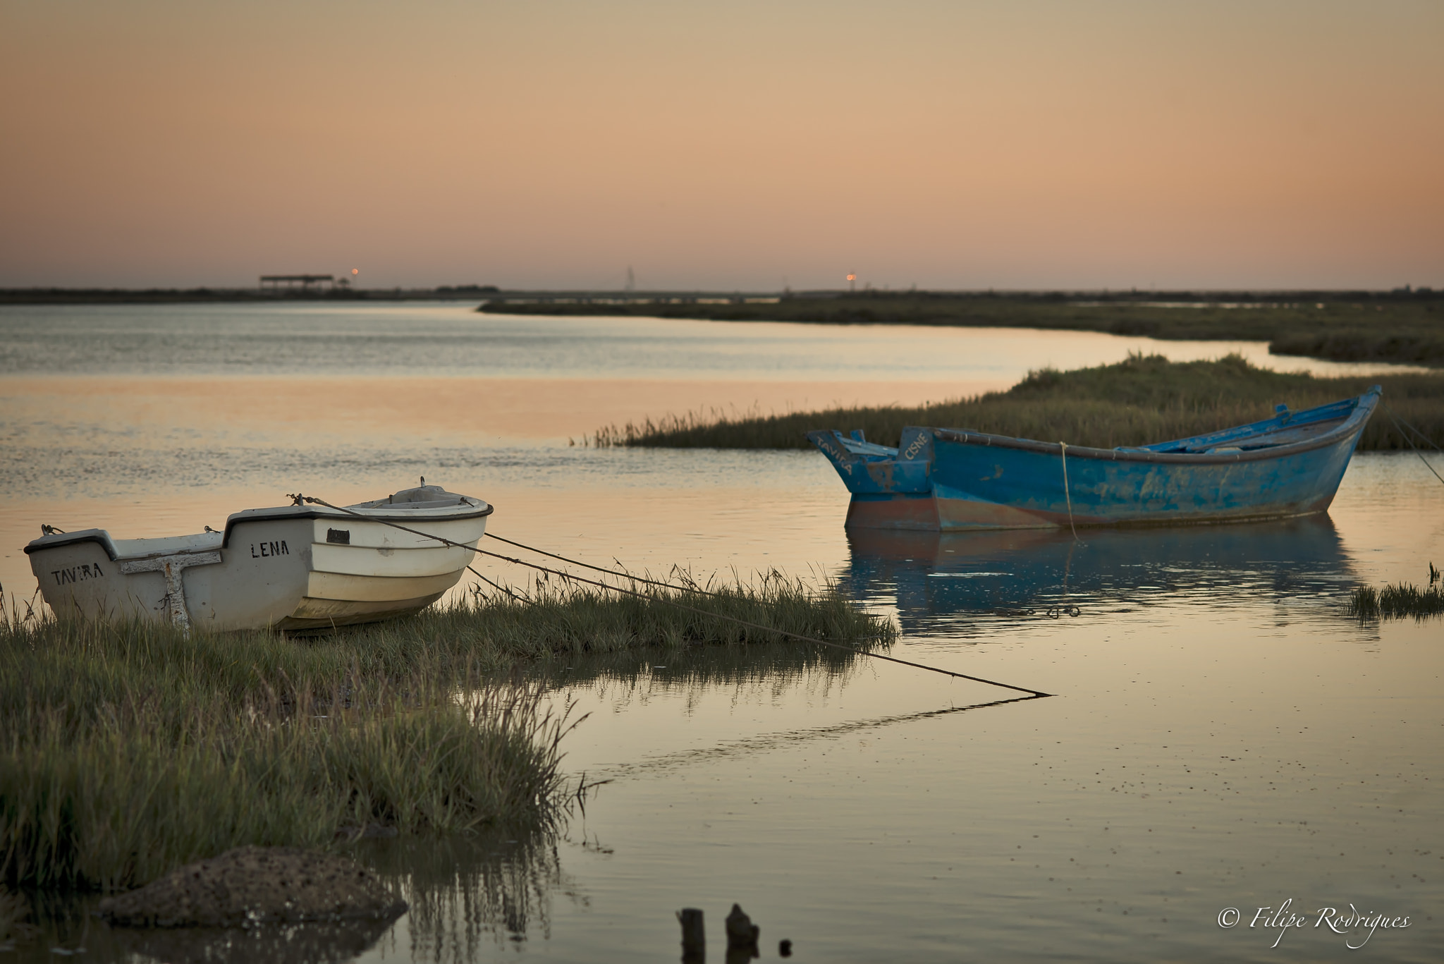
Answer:
POLYGON ((113 925, 156 928, 390 921, 403 911, 365 867, 293 847, 237 847, 100 903, 113 925))

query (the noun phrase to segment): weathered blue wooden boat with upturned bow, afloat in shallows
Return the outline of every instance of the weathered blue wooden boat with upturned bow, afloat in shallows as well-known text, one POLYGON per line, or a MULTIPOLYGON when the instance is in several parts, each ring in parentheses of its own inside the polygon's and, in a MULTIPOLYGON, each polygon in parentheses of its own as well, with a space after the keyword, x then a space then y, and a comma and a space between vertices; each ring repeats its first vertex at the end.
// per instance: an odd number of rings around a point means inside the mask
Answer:
POLYGON ((861 431, 813 431, 852 493, 848 526, 960 532, 1178 525, 1324 512, 1376 384, 1356 399, 1138 448, 1089 448, 962 428, 902 429, 897 448, 861 431))

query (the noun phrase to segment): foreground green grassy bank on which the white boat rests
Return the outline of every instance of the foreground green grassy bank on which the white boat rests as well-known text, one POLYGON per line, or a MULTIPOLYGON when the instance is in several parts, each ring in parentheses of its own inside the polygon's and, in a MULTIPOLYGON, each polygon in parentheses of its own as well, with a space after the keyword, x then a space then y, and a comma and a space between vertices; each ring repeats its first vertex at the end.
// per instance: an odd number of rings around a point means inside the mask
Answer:
POLYGON ((670 595, 703 613, 542 591, 310 639, 12 619, 0 627, 0 883, 123 889, 240 844, 546 822, 567 723, 539 710, 542 685, 503 671, 767 643, 777 629, 892 637, 836 594, 781 578, 670 595))

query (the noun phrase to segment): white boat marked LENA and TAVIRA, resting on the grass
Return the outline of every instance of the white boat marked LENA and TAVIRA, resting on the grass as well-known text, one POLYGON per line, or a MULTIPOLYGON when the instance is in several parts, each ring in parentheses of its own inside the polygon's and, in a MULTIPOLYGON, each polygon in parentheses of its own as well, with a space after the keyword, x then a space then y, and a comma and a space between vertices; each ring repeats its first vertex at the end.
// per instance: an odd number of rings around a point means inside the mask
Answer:
POLYGON ((344 510, 300 499, 247 509, 224 532, 189 536, 111 539, 104 529, 46 528, 25 552, 59 616, 219 630, 371 623, 439 600, 485 535, 491 504, 422 483, 344 510))

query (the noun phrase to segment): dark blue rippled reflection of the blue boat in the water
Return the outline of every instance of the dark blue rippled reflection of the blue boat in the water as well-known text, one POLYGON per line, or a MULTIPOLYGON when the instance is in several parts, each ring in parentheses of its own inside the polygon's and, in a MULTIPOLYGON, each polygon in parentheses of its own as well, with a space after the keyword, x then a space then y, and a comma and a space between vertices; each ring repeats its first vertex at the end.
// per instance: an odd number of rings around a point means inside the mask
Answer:
POLYGON ((1119 613, 1158 603, 1310 604, 1330 611, 1353 582, 1333 522, 1067 530, 849 529, 842 588, 895 604, 905 633, 985 632, 978 617, 1119 613))

